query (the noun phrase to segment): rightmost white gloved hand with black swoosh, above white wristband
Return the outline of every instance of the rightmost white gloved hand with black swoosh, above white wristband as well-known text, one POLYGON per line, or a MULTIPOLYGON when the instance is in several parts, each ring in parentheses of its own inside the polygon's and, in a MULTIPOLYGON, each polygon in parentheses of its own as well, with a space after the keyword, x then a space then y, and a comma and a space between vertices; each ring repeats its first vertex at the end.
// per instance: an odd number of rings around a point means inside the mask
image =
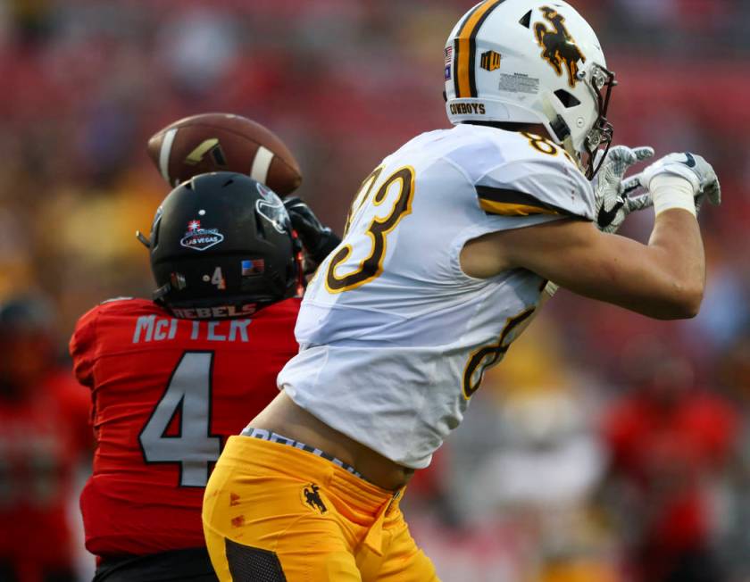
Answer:
POLYGON ((637 179, 640 186, 649 188, 651 180, 662 174, 679 176, 690 182, 696 199, 696 211, 700 209, 705 198, 708 198, 711 204, 721 204, 719 179, 711 164, 706 162, 703 156, 689 152, 665 155, 634 179, 637 179))

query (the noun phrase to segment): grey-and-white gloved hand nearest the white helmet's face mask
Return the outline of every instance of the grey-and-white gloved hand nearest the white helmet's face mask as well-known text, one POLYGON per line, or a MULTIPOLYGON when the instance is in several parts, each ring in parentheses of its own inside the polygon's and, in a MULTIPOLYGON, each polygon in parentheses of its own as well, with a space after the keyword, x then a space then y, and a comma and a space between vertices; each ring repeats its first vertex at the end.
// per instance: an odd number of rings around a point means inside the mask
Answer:
POLYGON ((640 183, 634 179, 623 180, 630 166, 653 155, 654 148, 648 146, 631 148, 627 145, 615 145, 610 149, 597 174, 594 188, 597 229, 608 233, 617 232, 630 212, 653 204, 648 193, 630 197, 629 193, 640 187, 640 183))

